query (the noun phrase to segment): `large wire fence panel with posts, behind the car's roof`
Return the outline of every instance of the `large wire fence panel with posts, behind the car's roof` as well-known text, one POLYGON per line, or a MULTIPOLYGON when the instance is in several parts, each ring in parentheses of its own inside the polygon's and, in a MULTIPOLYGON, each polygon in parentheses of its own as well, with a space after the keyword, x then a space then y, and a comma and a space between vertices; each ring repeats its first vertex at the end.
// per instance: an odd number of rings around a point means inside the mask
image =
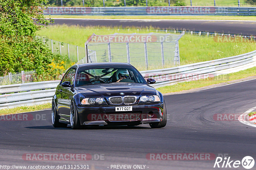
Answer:
MULTIPOLYGON (((127 62, 139 70, 173 67, 180 64, 181 34, 96 35, 86 41, 88 62, 127 62)), ((79 61, 79 62, 83 62, 79 61)))

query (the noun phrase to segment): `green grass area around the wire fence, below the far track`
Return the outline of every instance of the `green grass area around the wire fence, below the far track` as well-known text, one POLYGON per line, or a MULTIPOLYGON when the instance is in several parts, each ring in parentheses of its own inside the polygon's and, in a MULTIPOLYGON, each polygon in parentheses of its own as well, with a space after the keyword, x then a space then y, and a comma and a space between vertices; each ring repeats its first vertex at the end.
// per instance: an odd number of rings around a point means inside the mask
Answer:
MULTIPOLYGON (((106 26, 82 27, 82 26, 76 26, 76 25, 73 25, 73 26, 50 25, 48 26, 48 28, 41 29, 37 33, 41 36, 46 36, 53 40, 69 43, 72 45, 77 45, 77 46, 80 46, 81 48, 83 47, 82 52, 84 52, 84 42, 88 39, 88 37, 92 35, 92 33, 95 33, 97 35, 106 35, 106 34, 113 34, 116 32, 117 33, 150 33, 150 32, 156 32, 156 28, 153 28, 153 27, 123 28, 121 26, 120 27, 106 27, 106 26)), ((160 32, 160 33, 165 33, 165 32, 160 32)), ((172 33, 172 32, 167 31, 167 33, 172 33)), ((255 50, 256 45, 255 43, 248 43, 248 42, 247 43, 246 42, 244 43, 215 42, 212 36, 207 37, 207 36, 185 34, 179 40, 179 47, 180 47, 180 64, 185 65, 185 64, 220 59, 224 57, 230 57, 234 55, 248 53, 250 51, 255 50)), ((120 54, 121 52, 120 50, 119 51, 118 50, 116 51, 111 50, 111 52, 120 54)), ((64 53, 64 51, 67 51, 67 50, 63 49, 62 53, 64 53)), ((126 52, 126 48, 124 51, 126 52)), ((76 50, 73 50, 73 52, 74 52, 74 56, 76 56, 76 50)), ((131 51, 131 52, 135 53, 137 51, 131 51)), ((161 53, 159 55, 161 55, 161 53)), ((97 58, 98 57, 100 58, 101 56, 97 55, 97 58)), ((113 57, 115 56, 113 55, 113 57)), ((163 67, 160 66, 159 68, 163 68, 163 67)), ((140 68, 138 69, 141 70, 140 68)), ((154 68, 154 69, 157 69, 157 68, 154 68)))

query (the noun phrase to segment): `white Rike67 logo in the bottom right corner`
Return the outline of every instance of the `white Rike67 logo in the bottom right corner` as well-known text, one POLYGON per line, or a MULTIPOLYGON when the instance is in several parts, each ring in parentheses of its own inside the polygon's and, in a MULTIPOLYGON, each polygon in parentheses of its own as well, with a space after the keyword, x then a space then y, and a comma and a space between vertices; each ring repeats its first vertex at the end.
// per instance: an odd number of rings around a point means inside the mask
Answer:
POLYGON ((241 169, 241 165, 245 169, 251 169, 254 166, 254 159, 251 156, 245 156, 242 161, 240 160, 230 160, 230 157, 217 157, 214 163, 214 168, 238 168, 241 169))

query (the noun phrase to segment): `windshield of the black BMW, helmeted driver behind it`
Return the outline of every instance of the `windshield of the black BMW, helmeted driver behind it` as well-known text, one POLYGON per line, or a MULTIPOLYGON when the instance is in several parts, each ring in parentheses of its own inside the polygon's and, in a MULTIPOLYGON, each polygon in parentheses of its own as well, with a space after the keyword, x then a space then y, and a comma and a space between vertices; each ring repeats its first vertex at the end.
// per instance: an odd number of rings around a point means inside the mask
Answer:
POLYGON ((144 83, 145 79, 134 68, 95 68, 79 69, 76 86, 100 83, 144 83))

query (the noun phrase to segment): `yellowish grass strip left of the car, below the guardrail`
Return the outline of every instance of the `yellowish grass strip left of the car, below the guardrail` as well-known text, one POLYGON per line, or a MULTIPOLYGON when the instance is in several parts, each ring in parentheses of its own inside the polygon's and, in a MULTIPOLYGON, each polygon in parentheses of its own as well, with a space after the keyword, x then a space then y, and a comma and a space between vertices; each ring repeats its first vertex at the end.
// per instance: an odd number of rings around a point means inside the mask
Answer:
POLYGON ((52 107, 52 103, 45 103, 40 105, 34 105, 34 106, 20 106, 16 108, 11 109, 1 109, 0 115, 10 115, 10 114, 16 114, 16 113, 25 113, 30 111, 38 111, 38 110, 44 110, 52 107))

